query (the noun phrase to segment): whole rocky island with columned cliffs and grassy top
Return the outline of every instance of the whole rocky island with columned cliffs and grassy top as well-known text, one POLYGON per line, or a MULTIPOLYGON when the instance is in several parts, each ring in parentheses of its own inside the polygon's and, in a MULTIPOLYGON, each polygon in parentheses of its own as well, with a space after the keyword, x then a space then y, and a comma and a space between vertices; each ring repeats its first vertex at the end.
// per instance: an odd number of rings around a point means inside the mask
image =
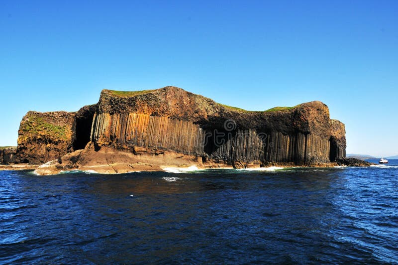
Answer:
MULTIPOLYGON (((166 167, 336 166, 345 159, 344 124, 319 101, 246 111, 177 87, 102 90, 77 112, 28 112, 15 163, 37 174, 166 167)), ((352 161, 350 161, 352 162, 352 161)))

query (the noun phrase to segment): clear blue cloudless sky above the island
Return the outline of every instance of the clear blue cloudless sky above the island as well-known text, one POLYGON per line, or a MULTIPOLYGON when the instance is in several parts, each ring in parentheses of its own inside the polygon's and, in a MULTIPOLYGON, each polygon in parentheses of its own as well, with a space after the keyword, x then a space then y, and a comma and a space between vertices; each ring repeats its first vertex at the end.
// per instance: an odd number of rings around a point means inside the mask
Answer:
POLYGON ((0 146, 29 110, 177 86, 246 110, 319 100, 347 153, 398 154, 398 1, 0 0, 0 146))

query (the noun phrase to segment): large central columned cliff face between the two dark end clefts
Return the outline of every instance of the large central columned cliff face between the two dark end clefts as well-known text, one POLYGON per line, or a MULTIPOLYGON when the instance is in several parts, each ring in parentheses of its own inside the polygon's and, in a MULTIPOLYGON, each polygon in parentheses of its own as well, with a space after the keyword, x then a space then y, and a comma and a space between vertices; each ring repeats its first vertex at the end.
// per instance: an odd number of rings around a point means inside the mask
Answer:
POLYGON ((166 87, 131 96, 103 90, 98 107, 92 130, 97 146, 138 145, 230 163, 330 162, 331 123, 321 102, 247 112, 166 87))

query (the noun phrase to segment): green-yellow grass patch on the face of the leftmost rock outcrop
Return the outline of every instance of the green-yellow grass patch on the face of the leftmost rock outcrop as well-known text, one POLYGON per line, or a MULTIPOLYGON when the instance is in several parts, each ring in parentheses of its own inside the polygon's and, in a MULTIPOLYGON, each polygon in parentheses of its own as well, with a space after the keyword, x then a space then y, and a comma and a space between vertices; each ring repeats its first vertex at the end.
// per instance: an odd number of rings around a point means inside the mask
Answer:
POLYGON ((68 139, 66 128, 46 123, 43 118, 31 116, 21 125, 24 133, 47 134, 55 138, 68 139))

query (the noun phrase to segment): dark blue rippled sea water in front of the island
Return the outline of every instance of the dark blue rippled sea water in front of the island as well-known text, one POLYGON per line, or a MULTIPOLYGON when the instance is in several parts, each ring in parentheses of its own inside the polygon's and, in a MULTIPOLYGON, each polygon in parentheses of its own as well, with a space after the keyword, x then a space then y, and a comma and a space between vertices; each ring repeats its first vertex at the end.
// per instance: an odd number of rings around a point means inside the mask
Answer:
POLYGON ((0 263, 398 263, 398 161, 274 172, 0 171, 0 263))

